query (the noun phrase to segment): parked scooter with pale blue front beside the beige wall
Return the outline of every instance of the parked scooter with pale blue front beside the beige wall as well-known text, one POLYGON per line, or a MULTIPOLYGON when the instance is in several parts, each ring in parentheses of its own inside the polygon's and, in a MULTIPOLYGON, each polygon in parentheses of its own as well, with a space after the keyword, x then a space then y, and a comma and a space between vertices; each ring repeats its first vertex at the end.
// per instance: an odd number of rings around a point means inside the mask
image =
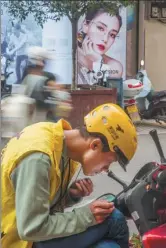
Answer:
POLYGON ((137 79, 143 83, 143 90, 136 96, 141 119, 155 119, 166 122, 166 90, 154 92, 152 83, 141 60, 137 79))

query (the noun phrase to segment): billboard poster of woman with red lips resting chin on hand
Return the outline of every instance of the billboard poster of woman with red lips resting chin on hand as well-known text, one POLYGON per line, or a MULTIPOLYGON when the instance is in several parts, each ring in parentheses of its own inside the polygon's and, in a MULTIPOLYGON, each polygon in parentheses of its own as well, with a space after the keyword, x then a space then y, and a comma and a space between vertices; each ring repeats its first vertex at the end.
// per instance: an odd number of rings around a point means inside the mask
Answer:
POLYGON ((92 84, 93 74, 104 67, 113 78, 126 77, 126 9, 111 16, 99 9, 78 22, 78 84, 92 84))

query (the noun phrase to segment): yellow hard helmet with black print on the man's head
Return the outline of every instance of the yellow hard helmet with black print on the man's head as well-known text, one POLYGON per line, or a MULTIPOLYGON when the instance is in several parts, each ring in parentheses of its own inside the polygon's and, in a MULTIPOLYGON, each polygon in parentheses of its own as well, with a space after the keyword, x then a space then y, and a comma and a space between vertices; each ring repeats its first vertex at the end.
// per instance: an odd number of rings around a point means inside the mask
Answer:
POLYGON ((137 132, 124 110, 116 104, 103 104, 86 115, 84 122, 89 133, 105 136, 110 151, 116 153, 119 164, 126 171, 137 148, 137 132))

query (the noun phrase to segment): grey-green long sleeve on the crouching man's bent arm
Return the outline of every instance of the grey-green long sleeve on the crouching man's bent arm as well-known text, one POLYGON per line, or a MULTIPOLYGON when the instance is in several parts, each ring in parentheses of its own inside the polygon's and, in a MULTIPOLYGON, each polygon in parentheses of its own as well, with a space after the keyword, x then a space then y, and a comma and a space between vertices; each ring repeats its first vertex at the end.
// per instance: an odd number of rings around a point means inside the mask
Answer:
POLYGON ((21 239, 44 241, 85 231, 96 224, 89 206, 50 215, 50 160, 36 152, 24 158, 11 179, 16 192, 16 221, 21 239))

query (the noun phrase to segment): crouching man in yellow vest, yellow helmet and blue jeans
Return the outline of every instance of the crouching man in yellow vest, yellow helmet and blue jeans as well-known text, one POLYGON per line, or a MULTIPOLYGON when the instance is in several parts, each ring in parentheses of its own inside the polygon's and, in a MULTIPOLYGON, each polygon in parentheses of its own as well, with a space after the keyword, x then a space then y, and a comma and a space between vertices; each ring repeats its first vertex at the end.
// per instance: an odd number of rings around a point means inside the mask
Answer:
POLYGON ((65 120, 26 127, 2 151, 2 248, 128 247, 128 227, 113 203, 96 200, 64 212, 93 191, 85 175, 125 169, 137 147, 135 127, 117 105, 104 104, 71 129, 65 120))

